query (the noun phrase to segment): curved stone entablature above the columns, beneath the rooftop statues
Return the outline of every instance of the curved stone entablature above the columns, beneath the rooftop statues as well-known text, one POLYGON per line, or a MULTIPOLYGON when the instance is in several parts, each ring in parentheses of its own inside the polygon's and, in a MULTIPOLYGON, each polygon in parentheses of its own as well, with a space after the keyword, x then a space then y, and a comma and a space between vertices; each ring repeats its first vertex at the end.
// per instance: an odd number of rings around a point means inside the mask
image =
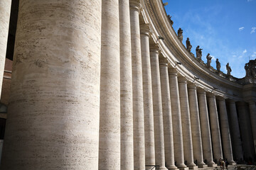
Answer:
POLYGON ((169 67, 176 69, 179 76, 186 77, 189 82, 201 89, 235 101, 242 100, 243 86, 238 83, 239 79, 228 77, 226 74, 217 74, 215 69, 206 68, 206 64, 196 60, 178 40, 161 0, 141 1, 142 23, 149 23, 151 43, 159 44, 161 55, 169 60, 169 67))

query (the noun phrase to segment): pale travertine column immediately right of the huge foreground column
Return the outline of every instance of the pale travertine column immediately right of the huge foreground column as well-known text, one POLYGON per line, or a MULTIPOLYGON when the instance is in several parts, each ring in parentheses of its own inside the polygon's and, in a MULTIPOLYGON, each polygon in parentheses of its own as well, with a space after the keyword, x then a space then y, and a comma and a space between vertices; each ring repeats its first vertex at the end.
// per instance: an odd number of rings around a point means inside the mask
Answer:
POLYGON ((99 170, 120 169, 119 1, 102 1, 99 170))

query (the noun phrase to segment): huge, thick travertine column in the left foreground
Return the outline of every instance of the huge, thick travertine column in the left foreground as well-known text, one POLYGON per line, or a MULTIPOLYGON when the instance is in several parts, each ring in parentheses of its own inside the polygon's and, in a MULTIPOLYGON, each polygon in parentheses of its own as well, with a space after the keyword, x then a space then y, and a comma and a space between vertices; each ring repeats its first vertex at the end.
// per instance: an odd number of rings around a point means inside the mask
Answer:
POLYGON ((0 169, 97 169, 101 1, 19 3, 0 169))

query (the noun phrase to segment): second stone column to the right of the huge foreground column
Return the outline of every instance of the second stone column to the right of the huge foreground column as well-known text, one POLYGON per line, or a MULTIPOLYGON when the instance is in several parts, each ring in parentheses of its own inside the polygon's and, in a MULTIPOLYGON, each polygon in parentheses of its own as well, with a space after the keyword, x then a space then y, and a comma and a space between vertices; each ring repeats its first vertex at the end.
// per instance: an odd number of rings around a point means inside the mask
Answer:
POLYGON ((132 49, 129 0, 119 0, 121 169, 134 168, 132 119, 132 49))

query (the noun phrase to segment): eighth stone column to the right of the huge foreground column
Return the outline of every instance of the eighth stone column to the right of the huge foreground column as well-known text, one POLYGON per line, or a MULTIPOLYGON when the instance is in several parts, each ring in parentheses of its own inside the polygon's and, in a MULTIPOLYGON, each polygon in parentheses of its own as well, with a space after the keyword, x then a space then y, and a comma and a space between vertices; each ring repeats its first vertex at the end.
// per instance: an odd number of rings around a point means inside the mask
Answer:
POLYGON ((178 78, 178 90, 181 102, 181 123, 183 135, 184 157, 189 169, 198 169, 193 162, 193 144, 191 134, 191 118, 188 104, 188 87, 185 77, 178 78))

